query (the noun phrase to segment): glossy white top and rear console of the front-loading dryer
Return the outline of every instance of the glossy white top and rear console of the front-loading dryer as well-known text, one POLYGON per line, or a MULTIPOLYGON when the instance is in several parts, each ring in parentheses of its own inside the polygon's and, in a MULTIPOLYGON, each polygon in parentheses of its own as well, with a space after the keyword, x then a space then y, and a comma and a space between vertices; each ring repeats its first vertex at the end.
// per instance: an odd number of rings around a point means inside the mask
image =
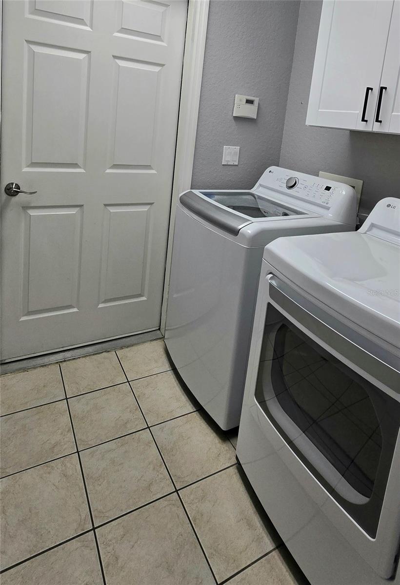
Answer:
POLYGON ((279 238, 264 259, 286 278, 366 331, 400 347, 400 199, 382 199, 359 232, 279 238), (396 207, 394 208, 394 210, 396 207), (396 235, 397 233, 397 235, 396 235))

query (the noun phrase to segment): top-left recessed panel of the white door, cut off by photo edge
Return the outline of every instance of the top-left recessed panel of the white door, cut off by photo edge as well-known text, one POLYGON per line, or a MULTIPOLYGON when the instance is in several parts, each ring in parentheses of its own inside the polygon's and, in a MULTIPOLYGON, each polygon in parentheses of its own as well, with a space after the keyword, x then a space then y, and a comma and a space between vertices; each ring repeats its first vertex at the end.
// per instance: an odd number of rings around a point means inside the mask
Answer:
POLYGON ((91 27, 93 0, 28 0, 27 4, 30 17, 91 27))

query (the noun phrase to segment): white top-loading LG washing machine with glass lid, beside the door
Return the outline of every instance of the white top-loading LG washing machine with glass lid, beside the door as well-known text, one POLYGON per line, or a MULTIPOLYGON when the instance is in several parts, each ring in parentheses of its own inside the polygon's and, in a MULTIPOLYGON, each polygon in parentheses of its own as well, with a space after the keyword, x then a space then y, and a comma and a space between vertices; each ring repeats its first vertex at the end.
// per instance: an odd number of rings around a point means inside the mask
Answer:
POLYGON ((165 343, 200 404, 239 424, 264 246, 282 235, 354 230, 356 195, 269 167, 251 191, 186 191, 176 210, 165 343))

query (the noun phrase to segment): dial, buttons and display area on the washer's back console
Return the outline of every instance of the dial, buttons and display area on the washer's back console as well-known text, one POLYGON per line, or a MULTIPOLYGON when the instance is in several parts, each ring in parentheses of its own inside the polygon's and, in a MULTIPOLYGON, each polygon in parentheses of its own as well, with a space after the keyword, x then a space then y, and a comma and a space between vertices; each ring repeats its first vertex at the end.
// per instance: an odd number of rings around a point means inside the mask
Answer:
POLYGON ((319 177, 290 177, 288 174, 279 174, 275 177, 276 187, 279 190, 289 190, 304 201, 312 201, 316 205, 330 207, 332 198, 340 188, 333 181, 323 180, 319 177))

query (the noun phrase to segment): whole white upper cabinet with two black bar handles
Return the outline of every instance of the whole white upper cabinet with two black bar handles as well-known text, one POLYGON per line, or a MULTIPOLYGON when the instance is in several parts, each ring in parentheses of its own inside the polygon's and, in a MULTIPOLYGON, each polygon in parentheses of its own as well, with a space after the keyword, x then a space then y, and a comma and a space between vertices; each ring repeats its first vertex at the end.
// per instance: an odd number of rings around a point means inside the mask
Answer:
POLYGON ((324 0, 306 124, 400 132, 400 0, 324 0))

